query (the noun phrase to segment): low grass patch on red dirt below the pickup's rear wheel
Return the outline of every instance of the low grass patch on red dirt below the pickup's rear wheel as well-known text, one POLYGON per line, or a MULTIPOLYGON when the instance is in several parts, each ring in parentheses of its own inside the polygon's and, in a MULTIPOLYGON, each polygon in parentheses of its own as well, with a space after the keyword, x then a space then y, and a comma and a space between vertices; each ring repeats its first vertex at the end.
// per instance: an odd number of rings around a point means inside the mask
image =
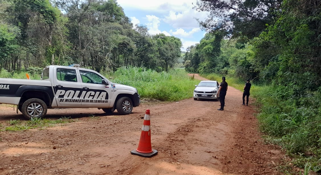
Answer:
POLYGON ((41 130, 48 127, 54 127, 56 126, 56 124, 71 123, 75 121, 76 121, 75 119, 72 119, 70 117, 62 117, 57 120, 35 118, 29 121, 20 121, 20 120, 10 119, 10 121, 8 121, 8 124, 10 126, 0 125, 0 128, 1 128, 0 131, 21 131, 21 130, 27 130, 27 129, 41 130))

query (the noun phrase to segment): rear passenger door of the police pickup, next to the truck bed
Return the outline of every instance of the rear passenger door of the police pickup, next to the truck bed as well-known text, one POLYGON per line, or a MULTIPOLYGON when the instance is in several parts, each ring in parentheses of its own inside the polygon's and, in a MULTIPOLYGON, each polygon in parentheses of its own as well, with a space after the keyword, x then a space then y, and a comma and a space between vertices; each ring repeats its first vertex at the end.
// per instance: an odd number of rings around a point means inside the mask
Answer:
POLYGON ((81 106, 82 88, 76 69, 54 67, 54 89, 57 104, 81 106))

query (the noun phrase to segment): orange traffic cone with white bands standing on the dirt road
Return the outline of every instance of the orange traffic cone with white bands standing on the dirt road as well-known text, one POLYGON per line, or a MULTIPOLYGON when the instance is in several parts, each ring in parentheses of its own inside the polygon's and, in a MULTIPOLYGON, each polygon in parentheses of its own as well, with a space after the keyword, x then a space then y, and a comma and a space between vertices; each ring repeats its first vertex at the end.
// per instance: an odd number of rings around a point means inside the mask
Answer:
POLYGON ((138 148, 132 150, 131 154, 139 155, 142 157, 152 157, 158 153, 157 150, 152 149, 151 143, 151 120, 150 120, 150 111, 149 109, 145 112, 141 137, 139 139, 138 148))

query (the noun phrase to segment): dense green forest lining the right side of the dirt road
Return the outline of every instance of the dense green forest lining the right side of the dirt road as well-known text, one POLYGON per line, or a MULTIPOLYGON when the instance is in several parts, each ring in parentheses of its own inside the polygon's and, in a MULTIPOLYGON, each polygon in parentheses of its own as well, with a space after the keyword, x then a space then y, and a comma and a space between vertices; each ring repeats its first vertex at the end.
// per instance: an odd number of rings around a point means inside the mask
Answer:
POLYGON ((296 94, 321 83, 321 2, 318 0, 202 0, 199 21, 210 31, 185 56, 189 72, 293 84, 296 94), (301 89, 300 89, 301 88, 301 89))

